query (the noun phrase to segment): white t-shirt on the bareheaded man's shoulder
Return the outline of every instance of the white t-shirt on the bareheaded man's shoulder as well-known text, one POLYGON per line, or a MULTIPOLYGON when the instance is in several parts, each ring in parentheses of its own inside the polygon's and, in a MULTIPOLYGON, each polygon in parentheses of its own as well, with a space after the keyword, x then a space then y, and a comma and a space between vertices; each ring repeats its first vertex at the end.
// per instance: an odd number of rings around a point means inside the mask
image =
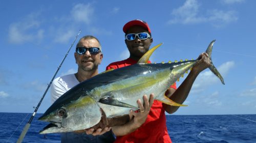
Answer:
POLYGON ((79 81, 75 74, 68 74, 57 77, 53 80, 51 85, 51 102, 55 102, 61 95, 77 85, 79 81))

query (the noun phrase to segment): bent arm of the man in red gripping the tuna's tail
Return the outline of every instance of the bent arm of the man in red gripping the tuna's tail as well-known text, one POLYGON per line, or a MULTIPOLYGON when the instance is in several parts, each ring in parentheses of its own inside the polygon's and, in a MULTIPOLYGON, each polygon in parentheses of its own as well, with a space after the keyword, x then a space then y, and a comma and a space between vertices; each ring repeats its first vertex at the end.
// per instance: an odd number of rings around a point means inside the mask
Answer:
MULTIPOLYGON (((191 90, 191 87, 199 73, 210 66, 210 59, 207 53, 201 53, 198 59, 200 60, 192 68, 192 70, 189 72, 185 80, 181 83, 179 88, 176 91, 172 88, 169 88, 166 91, 165 95, 174 102, 182 104, 186 100, 191 90)), ((165 111, 167 111, 168 113, 174 113, 179 108, 179 106, 170 106, 167 104, 163 104, 163 106, 165 111)))

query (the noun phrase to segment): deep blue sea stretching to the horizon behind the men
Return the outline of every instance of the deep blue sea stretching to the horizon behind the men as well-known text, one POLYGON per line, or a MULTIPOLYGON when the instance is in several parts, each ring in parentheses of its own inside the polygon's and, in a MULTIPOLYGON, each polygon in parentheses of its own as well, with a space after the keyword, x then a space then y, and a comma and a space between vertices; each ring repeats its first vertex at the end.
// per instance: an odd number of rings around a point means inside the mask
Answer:
MULTIPOLYGON (((0 142, 16 142, 31 113, 0 113, 0 142)), ((23 142, 60 142, 60 134, 39 134, 48 123, 37 113, 23 142)), ((178 142, 255 142, 256 115, 169 115, 167 129, 178 142)))

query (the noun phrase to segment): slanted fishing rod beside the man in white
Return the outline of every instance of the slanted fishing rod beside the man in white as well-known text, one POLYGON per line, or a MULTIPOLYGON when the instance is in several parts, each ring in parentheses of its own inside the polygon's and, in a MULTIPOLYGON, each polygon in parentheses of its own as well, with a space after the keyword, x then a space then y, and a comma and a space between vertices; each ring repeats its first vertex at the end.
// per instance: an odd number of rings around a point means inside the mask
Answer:
POLYGON ((70 46, 68 52, 66 53, 65 57, 64 57, 63 60, 61 61, 60 65, 59 65, 59 67, 58 67, 58 69, 57 69, 57 71, 55 72, 54 76, 52 77, 51 82, 48 84, 48 87, 47 87, 47 89, 46 89, 44 95, 42 95, 41 100, 39 101, 39 103, 38 103, 37 106, 35 107, 35 111, 34 111, 33 115, 30 117, 29 122, 26 124, 26 126, 24 127, 22 133, 19 135, 19 138, 18 138, 18 140, 17 140, 17 143, 21 143, 21 142, 23 141, 23 139, 24 139, 26 133, 27 133, 28 130, 29 130, 30 123, 32 122, 33 118, 35 117, 35 114, 36 114, 36 112, 37 112, 37 109, 39 108, 39 106, 40 106, 42 100, 45 98, 45 95, 46 95, 47 91, 49 90, 49 88, 50 88, 50 86, 51 86, 51 84, 52 84, 53 79, 55 78, 55 76, 56 76, 57 72, 59 71, 61 65, 63 64, 64 60, 66 59, 67 55, 69 54, 69 51, 70 51, 70 49, 72 48, 72 46, 74 45, 74 43, 75 43, 77 37, 79 36, 80 32, 81 32, 81 30, 79 30, 79 33, 77 34, 75 40, 73 41, 73 43, 71 44, 71 46, 70 46))

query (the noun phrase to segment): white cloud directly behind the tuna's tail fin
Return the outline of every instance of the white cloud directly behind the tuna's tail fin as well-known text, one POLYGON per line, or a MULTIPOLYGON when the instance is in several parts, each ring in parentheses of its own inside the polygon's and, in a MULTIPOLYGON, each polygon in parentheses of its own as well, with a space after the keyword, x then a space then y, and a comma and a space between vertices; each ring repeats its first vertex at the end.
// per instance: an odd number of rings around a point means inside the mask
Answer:
MULTIPOLYGON (((230 61, 230 62, 223 63, 217 69, 223 77, 226 74, 228 74, 229 70, 233 67, 234 67, 234 62, 230 61)), ((206 88, 209 85, 212 85, 216 82, 220 82, 220 79, 215 74, 213 74, 211 71, 206 71, 206 72, 200 73, 198 75, 195 83, 193 84, 193 89, 191 90, 191 93, 202 92, 204 90, 204 88, 206 88)))

